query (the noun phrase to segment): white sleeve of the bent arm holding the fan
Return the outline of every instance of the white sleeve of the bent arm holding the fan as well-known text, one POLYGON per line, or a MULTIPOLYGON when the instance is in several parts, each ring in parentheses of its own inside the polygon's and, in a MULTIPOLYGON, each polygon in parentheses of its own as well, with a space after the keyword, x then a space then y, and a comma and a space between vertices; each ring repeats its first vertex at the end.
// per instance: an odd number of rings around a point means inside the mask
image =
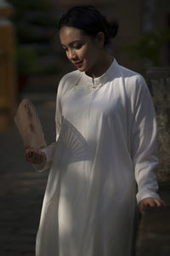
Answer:
MULTIPOLYGON (((62 81, 62 80, 61 80, 62 81)), ((43 172, 50 168, 52 162, 54 160, 54 153, 55 153, 55 146, 59 139, 59 131, 61 128, 62 123, 62 114, 61 114, 61 104, 60 104, 60 88, 61 88, 61 81, 59 82, 58 92, 57 92, 57 100, 56 100, 56 111, 55 111, 55 124, 56 124, 56 142, 51 143, 48 145, 47 148, 42 148, 42 152, 46 154, 46 162, 42 165, 33 165, 34 169, 37 172, 43 172)))

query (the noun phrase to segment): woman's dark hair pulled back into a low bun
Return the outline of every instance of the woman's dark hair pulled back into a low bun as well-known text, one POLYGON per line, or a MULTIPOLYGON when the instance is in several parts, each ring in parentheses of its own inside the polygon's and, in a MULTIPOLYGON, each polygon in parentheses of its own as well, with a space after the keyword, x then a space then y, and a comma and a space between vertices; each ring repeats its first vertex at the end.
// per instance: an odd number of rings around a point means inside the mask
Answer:
POLYGON ((105 45, 110 43, 111 38, 115 38, 118 30, 116 21, 108 22, 92 5, 80 5, 69 9, 59 20, 59 30, 63 26, 78 28, 91 37, 96 36, 98 32, 104 32, 105 45))

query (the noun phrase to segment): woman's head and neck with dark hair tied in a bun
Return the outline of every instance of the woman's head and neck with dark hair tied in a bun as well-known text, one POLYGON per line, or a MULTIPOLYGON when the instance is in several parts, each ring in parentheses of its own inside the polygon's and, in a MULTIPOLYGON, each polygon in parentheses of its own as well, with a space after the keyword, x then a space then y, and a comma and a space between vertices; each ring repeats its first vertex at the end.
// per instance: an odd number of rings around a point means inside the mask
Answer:
POLYGON ((111 26, 94 7, 77 6, 59 20, 59 38, 67 58, 79 71, 96 77, 111 65, 105 45, 115 37, 117 27, 111 26))

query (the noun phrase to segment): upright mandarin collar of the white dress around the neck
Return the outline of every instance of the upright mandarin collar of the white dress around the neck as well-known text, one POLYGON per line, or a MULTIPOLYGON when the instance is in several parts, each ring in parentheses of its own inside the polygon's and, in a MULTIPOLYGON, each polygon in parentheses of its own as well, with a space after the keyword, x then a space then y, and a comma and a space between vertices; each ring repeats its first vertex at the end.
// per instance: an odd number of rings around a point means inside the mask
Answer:
POLYGON ((111 77, 114 77, 114 74, 116 73, 116 66, 117 62, 114 58, 114 60, 111 63, 111 66, 102 76, 93 79, 92 77, 88 76, 85 72, 82 72, 82 79, 93 88, 96 88, 98 86, 100 87, 107 83, 111 79, 111 77))

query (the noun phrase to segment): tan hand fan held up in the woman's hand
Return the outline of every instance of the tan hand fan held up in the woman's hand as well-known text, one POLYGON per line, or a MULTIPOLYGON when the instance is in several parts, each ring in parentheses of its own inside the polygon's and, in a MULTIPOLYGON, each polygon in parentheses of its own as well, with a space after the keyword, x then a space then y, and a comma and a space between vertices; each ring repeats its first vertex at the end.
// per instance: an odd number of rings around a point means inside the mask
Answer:
POLYGON ((32 102, 23 99, 14 117, 23 142, 29 147, 45 148, 47 144, 44 139, 42 125, 32 102))

